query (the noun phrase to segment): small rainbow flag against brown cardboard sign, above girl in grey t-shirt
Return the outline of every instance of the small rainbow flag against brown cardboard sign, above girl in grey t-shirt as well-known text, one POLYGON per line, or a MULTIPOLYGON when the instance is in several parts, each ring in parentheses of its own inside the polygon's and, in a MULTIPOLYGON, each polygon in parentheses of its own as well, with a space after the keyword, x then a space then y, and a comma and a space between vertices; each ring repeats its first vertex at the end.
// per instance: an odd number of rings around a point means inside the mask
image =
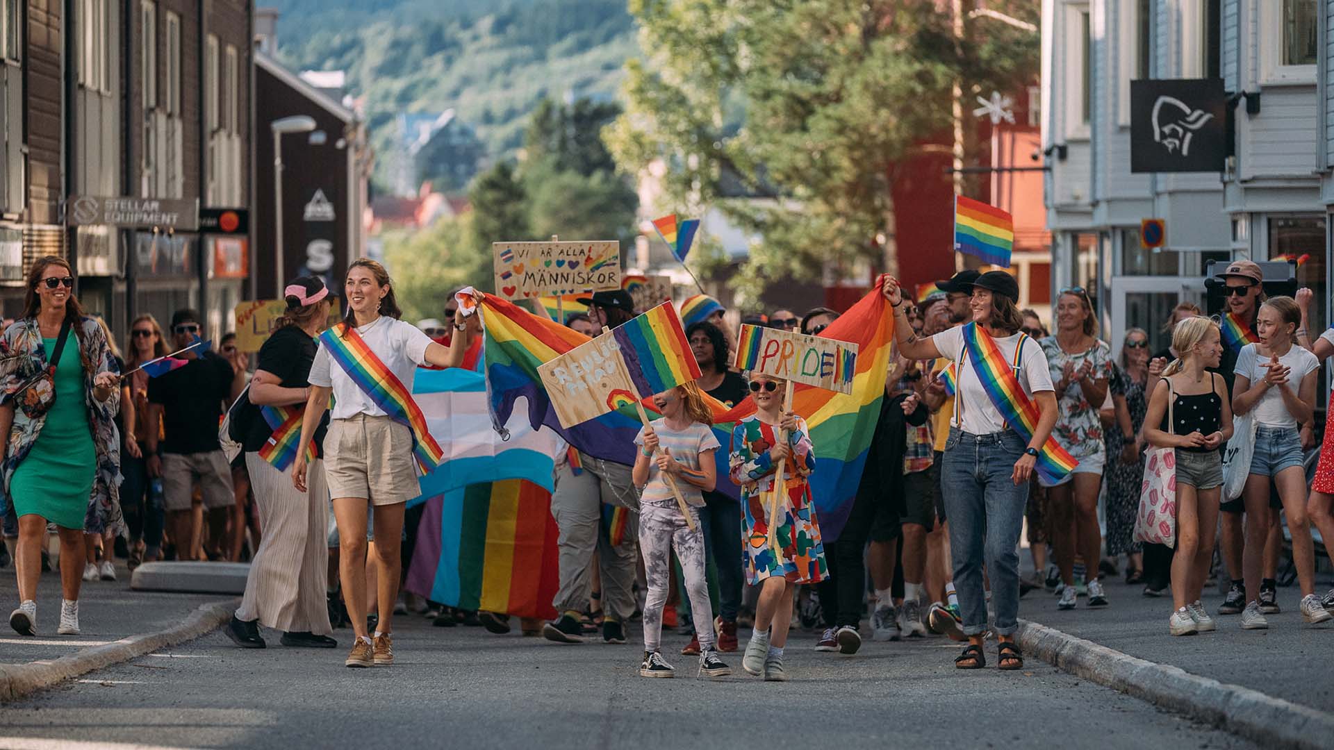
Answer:
POLYGON ((699 363, 670 302, 618 326, 612 338, 639 398, 670 391, 700 376, 699 363))

